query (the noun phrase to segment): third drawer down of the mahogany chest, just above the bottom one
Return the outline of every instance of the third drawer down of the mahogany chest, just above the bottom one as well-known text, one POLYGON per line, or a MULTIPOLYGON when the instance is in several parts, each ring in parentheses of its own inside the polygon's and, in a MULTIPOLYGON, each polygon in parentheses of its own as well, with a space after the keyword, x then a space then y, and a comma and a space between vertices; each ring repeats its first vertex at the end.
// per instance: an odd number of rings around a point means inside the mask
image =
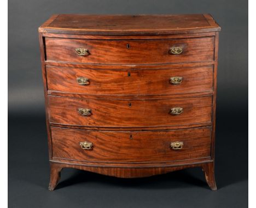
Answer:
POLYGON ((210 123, 212 120, 212 96, 152 100, 48 96, 48 102, 50 123, 63 125, 158 127, 210 123))

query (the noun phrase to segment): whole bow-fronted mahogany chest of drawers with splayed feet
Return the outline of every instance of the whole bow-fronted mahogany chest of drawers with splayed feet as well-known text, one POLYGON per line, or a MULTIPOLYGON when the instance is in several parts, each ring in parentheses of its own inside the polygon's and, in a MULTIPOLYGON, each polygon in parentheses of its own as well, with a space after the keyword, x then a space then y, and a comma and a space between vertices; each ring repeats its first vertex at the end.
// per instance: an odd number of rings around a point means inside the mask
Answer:
POLYGON ((53 15, 39 27, 50 185, 201 167, 211 189, 218 35, 209 14, 53 15))

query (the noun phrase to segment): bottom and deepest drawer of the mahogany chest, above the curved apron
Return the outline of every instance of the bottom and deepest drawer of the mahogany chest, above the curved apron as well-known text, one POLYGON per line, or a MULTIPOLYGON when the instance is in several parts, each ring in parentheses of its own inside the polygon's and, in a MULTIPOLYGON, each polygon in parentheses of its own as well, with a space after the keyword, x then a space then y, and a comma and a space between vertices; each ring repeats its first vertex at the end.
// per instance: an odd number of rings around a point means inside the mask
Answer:
POLYGON ((51 127, 51 137, 53 158, 67 160, 143 163, 190 160, 211 155, 211 127, 123 132, 51 127))

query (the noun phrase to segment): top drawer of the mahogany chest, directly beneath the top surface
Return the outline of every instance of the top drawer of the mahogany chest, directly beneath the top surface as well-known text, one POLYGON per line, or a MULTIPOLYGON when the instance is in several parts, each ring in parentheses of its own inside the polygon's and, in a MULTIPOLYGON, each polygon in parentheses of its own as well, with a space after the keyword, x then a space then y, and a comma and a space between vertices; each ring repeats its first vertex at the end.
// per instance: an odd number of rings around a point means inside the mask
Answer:
POLYGON ((46 60, 86 64, 206 62, 214 58, 214 37, 171 40, 45 38, 45 52, 46 60))

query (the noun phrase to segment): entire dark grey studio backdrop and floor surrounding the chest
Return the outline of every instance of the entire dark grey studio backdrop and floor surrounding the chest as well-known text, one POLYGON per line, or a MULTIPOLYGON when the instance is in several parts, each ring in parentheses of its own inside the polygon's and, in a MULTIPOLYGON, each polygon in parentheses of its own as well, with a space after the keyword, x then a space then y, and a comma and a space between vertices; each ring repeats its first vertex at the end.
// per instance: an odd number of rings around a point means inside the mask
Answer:
POLYGON ((8 22, 10 207, 247 207, 246 0, 9 0, 8 22), (201 169, 196 168, 130 180, 65 169, 56 191, 48 191, 38 27, 58 13, 213 15, 222 27, 216 114, 217 192, 208 189, 201 169))

